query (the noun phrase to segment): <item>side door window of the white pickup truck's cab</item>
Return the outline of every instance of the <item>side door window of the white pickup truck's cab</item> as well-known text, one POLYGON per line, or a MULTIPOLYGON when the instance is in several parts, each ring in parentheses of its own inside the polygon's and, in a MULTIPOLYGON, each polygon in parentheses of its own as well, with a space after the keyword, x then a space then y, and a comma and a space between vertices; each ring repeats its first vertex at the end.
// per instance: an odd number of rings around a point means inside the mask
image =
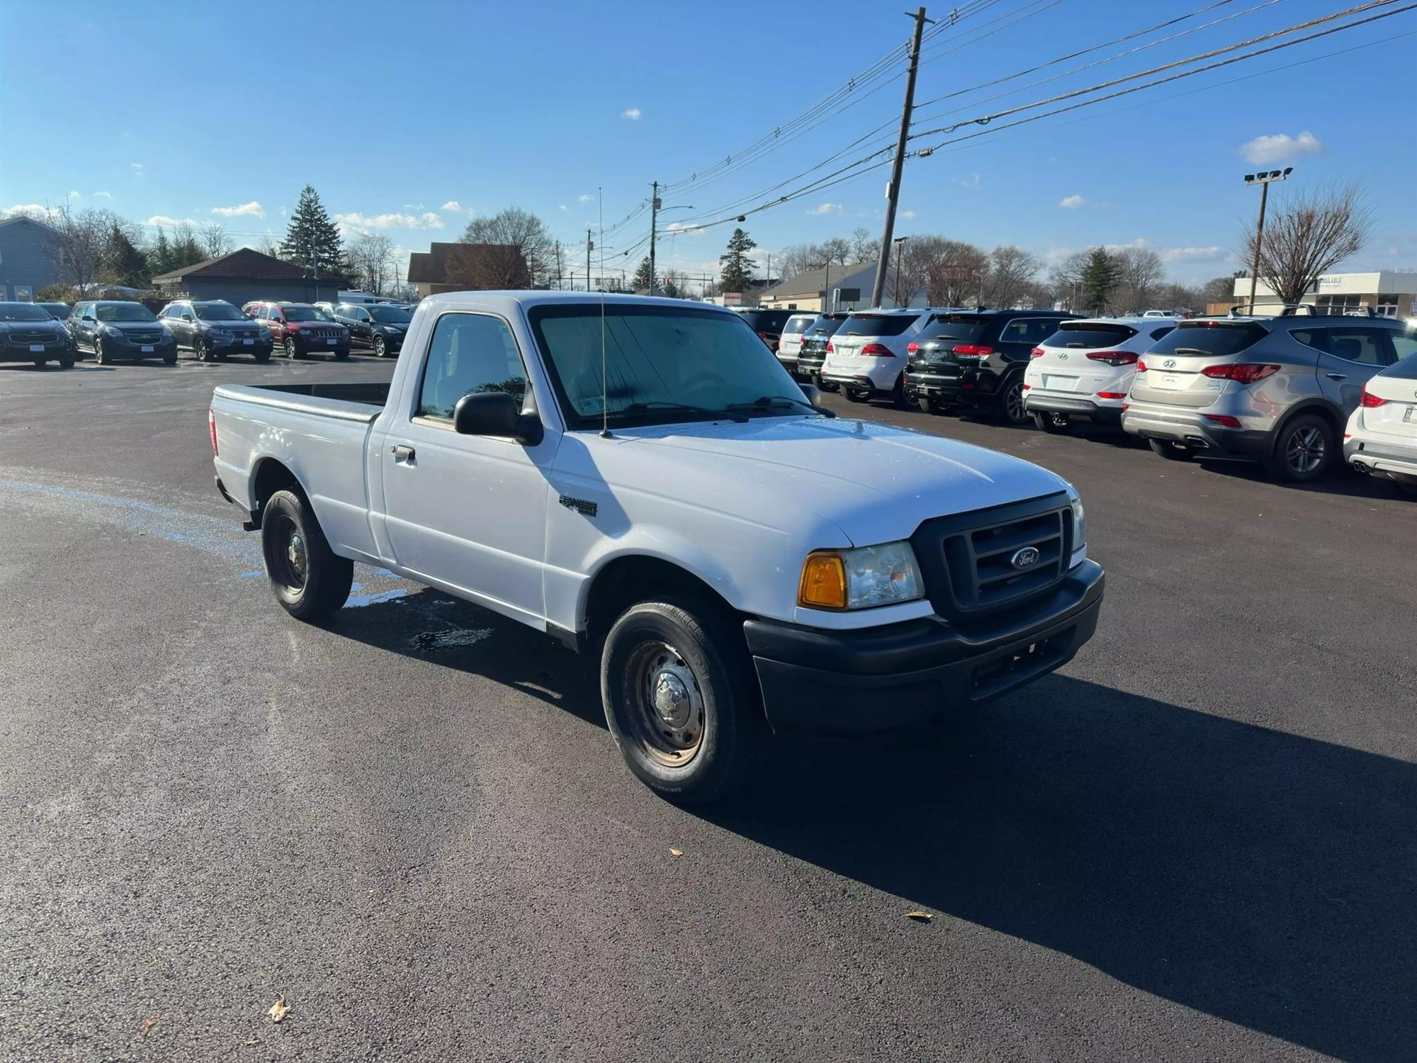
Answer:
POLYGON ((521 354, 504 320, 480 313, 445 313, 428 347, 417 415, 451 420, 463 395, 506 391, 520 401, 526 388, 521 354))

